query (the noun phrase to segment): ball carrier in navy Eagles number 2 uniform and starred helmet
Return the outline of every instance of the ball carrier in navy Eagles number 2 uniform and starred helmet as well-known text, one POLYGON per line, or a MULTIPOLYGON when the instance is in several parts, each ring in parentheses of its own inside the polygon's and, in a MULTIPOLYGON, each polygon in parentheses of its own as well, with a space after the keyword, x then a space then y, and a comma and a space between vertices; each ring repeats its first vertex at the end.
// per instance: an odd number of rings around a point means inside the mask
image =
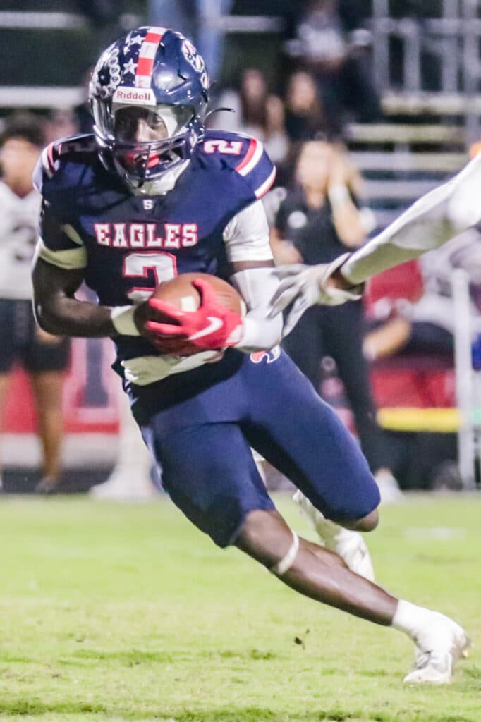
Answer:
POLYGON ((38 322, 113 338, 165 490, 216 544, 235 544, 306 596, 410 635, 407 682, 449 682, 468 644, 462 627, 300 539, 256 469, 251 448, 329 520, 355 531, 378 523, 378 487, 357 443, 277 346, 282 316, 267 318, 278 280, 260 199, 272 162, 254 138, 204 129, 208 96, 202 57, 173 30, 139 27, 100 56, 94 134, 51 145, 38 168, 38 322), (246 315, 202 280, 196 311, 150 297, 191 271, 229 278, 246 315), (75 297, 82 280, 98 305, 75 297))

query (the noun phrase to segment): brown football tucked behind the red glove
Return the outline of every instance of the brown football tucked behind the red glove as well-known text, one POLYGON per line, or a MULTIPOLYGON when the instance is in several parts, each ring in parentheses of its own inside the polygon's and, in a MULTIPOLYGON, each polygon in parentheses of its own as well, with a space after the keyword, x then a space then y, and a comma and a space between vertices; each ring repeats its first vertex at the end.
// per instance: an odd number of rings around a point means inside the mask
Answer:
POLYGON ((200 294, 192 285, 195 279, 208 281, 215 290, 217 299, 235 313, 243 315, 246 307, 241 295, 228 282, 217 276, 205 273, 184 273, 170 281, 160 283, 155 289, 153 296, 162 301, 167 301, 183 311, 195 311, 199 308, 200 294))

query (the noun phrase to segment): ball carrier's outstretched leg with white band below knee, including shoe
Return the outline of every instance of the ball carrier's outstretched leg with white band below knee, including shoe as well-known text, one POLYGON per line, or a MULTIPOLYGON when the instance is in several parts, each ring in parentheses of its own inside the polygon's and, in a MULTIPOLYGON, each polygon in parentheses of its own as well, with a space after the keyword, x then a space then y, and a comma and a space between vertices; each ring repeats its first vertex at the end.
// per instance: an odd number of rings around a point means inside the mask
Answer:
POLYGON ((422 677, 410 681, 451 679, 454 658, 467 645, 459 625, 395 599, 352 573, 337 554, 298 539, 275 511, 237 425, 205 424, 169 433, 161 416, 142 427, 144 439, 162 464, 165 489, 199 529, 221 547, 235 544, 312 599, 406 632, 423 652, 417 671, 422 677))

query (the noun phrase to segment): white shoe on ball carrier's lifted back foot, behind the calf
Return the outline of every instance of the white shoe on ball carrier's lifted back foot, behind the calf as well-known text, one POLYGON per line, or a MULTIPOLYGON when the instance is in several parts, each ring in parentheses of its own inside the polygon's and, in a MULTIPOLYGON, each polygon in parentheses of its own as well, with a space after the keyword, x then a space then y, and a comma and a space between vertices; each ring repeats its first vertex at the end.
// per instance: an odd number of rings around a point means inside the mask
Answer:
POLYGON ((326 549, 339 554, 339 557, 345 561, 352 572, 373 582, 373 562, 371 562, 371 556, 362 534, 358 531, 345 529, 343 526, 334 523, 334 521, 326 519, 302 492, 295 492, 294 500, 306 516, 311 519, 321 544, 326 549))

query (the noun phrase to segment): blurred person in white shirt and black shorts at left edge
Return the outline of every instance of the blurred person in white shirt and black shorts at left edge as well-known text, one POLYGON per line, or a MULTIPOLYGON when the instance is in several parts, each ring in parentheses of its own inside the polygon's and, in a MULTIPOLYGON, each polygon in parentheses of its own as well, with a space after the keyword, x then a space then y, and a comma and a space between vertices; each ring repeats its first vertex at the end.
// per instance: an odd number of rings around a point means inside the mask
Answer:
POLYGON ((69 341, 39 329, 32 313, 30 266, 40 209, 32 173, 44 143, 40 118, 26 114, 7 118, 0 136, 0 416, 12 368, 21 362, 30 378, 43 447, 43 479, 36 490, 51 493, 60 475, 61 396, 69 341))

